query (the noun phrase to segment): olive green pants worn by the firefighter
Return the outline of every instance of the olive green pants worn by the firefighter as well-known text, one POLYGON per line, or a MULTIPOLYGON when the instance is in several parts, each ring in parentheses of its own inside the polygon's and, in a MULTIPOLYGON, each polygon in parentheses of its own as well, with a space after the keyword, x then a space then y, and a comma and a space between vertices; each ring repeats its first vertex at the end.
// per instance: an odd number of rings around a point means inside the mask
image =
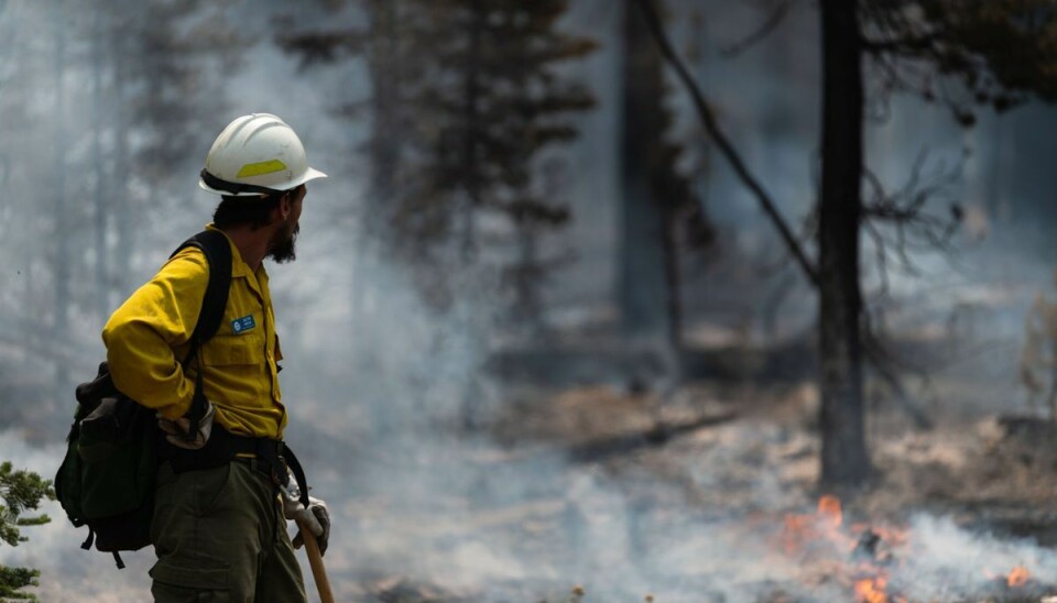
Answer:
POLYGON ((154 601, 307 601, 276 489, 246 463, 178 475, 163 463, 151 537, 154 601))

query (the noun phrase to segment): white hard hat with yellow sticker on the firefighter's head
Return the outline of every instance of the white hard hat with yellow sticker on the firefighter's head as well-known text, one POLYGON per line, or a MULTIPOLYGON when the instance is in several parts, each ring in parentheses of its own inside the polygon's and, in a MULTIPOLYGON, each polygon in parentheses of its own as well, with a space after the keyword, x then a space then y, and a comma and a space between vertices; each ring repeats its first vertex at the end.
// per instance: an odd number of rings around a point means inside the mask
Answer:
POLYGON ((217 136, 198 186, 217 195, 248 197, 326 177, 308 167, 305 147, 286 122, 270 113, 251 113, 237 118, 217 136))

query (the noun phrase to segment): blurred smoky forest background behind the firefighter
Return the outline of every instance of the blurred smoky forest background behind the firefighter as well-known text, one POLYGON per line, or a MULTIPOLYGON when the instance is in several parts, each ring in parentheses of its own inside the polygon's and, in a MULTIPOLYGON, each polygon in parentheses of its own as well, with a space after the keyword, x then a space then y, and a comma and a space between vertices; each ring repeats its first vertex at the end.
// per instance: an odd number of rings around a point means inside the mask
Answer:
MULTIPOLYGON (((1055 594, 1055 98, 1050 0, 0 0, 0 460, 271 112, 339 600, 1055 594), (897 564, 774 544, 833 492, 897 564)), ((32 592, 145 596, 43 508, 32 592)))

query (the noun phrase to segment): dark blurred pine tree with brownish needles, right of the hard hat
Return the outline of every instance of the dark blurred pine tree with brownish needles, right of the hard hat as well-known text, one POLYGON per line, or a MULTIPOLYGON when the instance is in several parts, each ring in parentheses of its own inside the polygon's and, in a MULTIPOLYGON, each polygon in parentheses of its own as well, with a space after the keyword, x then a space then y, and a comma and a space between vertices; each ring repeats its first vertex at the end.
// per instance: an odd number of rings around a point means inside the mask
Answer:
POLYGON ((308 65, 366 58, 373 124, 367 220, 384 227, 389 250, 423 268, 423 292, 438 306, 449 293, 437 277, 439 255, 455 248, 461 259, 478 256, 482 216, 499 218, 520 252, 506 270, 521 292, 514 305, 536 304, 527 285, 547 261, 531 256, 537 248, 528 241, 568 218, 545 198, 536 162, 576 135, 563 117, 592 105, 586 89, 555 73, 595 48, 557 31, 566 10, 558 0, 372 1, 367 28, 281 37, 308 65))

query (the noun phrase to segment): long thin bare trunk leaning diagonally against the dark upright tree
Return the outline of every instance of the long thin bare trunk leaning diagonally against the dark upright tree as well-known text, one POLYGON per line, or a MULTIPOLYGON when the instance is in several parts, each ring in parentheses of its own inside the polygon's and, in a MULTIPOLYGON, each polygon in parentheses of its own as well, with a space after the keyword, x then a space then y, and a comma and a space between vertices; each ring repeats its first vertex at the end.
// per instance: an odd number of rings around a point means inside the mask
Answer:
POLYGON ((808 281, 810 281, 811 284, 817 288, 819 286, 817 270, 811 264, 810 260, 808 260, 799 243, 796 241, 796 235, 793 234, 793 231, 789 229, 788 224, 785 223, 785 220, 778 212, 774 201, 771 200, 771 197, 763 189, 763 186, 760 184, 760 182, 756 180, 756 178, 749 172, 748 166, 745 166, 744 161, 742 161, 741 156, 734 150, 733 144, 720 130, 719 124, 716 121, 716 116, 712 113, 708 101, 705 99, 705 95, 690 76, 678 54, 676 54, 675 48, 672 46, 672 42, 668 40, 667 33, 664 31, 664 28, 661 24, 661 18, 657 15, 657 11, 654 8, 653 2, 650 0, 635 0, 635 3, 642 9, 643 17, 646 20, 646 24, 650 26, 650 31, 653 34, 657 46, 660 46, 661 54, 668 62, 672 68, 675 69, 679 80, 683 81, 684 86, 686 86, 687 90, 689 91, 698 116, 701 118, 701 121, 705 124, 705 129, 708 131, 708 134, 712 138, 712 140, 716 141, 716 145, 719 147, 723 158, 727 160, 741 182, 756 197, 756 200, 760 201, 760 205, 763 207, 763 211, 771 218, 771 221, 774 222, 775 228, 778 229, 778 233, 782 235, 782 240, 789 249, 789 252, 796 257, 797 263, 800 265, 800 270, 804 271, 804 274, 807 276, 808 281))

